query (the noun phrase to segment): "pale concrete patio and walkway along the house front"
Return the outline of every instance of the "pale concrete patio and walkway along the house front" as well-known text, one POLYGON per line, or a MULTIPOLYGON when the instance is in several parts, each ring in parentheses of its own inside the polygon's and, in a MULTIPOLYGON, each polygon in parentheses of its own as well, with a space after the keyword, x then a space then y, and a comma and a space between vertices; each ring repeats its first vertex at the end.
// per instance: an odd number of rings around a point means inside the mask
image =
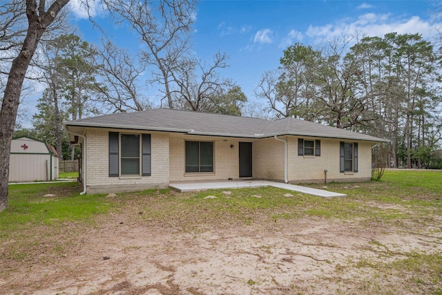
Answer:
POLYGON ((220 182, 182 182, 169 184, 169 187, 177 191, 205 191, 206 189, 242 189, 246 187, 279 187, 289 191, 298 191, 308 193, 309 195, 320 196, 323 198, 346 197, 344 193, 334 193, 324 191, 323 189, 311 189, 299 185, 287 184, 282 182, 273 182, 267 180, 241 180, 241 181, 220 181, 220 182))

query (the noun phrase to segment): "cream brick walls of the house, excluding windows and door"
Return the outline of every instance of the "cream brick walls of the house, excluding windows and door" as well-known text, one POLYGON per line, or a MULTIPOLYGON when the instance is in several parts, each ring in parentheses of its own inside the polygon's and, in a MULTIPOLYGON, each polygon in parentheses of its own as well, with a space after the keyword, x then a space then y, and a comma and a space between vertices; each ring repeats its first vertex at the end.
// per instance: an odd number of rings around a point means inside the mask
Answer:
MULTIPOLYGON (((151 176, 108 177, 108 132, 88 129, 86 132, 86 184, 88 193, 119 192, 166 187, 169 182, 193 180, 228 180, 239 177, 239 142, 222 137, 190 136, 171 133, 151 134, 151 176), (213 173, 185 173, 185 140, 212 141, 215 154, 213 173), (231 148, 233 145, 233 148, 231 148)), ((140 134, 140 133, 137 133, 140 134)), ((328 181, 369 180, 371 178, 372 144, 358 142, 358 172, 339 172, 340 140, 321 140, 321 155, 298 156, 298 137, 285 136, 288 149, 289 182, 323 182, 324 169, 328 181)), ((305 140, 314 138, 302 137, 305 140)), ((244 140, 247 141, 247 140, 244 140)), ((351 142, 351 141, 350 141, 351 142)), ((284 143, 273 137, 253 140, 252 174, 256 179, 284 181, 284 143)))

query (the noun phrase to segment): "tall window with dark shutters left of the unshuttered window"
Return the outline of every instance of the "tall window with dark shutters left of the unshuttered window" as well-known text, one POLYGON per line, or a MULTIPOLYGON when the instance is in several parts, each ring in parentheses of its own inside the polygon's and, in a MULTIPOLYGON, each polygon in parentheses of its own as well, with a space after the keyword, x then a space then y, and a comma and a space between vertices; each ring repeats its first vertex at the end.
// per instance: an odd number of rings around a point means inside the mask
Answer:
POLYGON ((109 132, 109 177, 151 175, 151 135, 109 132))

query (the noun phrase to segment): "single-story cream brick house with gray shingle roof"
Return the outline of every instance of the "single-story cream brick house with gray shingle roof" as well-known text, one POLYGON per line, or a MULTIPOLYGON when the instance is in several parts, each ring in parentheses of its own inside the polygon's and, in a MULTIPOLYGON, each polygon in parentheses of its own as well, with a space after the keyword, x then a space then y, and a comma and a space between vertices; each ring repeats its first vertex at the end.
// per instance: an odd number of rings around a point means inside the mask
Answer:
POLYGON ((269 121, 166 108, 64 124, 70 141, 81 144, 84 193, 241 178, 365 181, 372 175, 372 146, 386 142, 291 117, 269 121))

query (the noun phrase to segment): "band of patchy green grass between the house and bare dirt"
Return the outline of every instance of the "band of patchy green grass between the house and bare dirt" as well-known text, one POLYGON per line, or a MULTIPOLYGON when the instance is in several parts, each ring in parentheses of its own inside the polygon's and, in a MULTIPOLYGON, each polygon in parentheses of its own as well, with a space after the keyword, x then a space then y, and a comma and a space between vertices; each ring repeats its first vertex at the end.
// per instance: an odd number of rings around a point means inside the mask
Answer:
MULTIPOLYGON (((119 195, 108 200, 104 195, 79 196, 81 188, 72 184, 17 184, 10 186, 10 207, 0 214, 1 231, 69 221, 88 221, 109 209, 135 207, 144 220, 192 229, 201 221, 229 226, 229 222, 251 225, 265 216, 279 218, 337 218, 397 224, 403 220, 431 222, 442 209, 441 171, 385 171, 381 181, 330 183, 327 189, 346 193, 347 198, 325 199, 262 187, 198 193, 176 193, 169 189, 119 195), (44 197, 54 193, 55 197, 44 197), (213 199, 204 199, 206 196, 213 199)), ((321 188, 324 184, 307 184, 321 188)), ((211 225, 210 225, 211 226, 211 225)))

